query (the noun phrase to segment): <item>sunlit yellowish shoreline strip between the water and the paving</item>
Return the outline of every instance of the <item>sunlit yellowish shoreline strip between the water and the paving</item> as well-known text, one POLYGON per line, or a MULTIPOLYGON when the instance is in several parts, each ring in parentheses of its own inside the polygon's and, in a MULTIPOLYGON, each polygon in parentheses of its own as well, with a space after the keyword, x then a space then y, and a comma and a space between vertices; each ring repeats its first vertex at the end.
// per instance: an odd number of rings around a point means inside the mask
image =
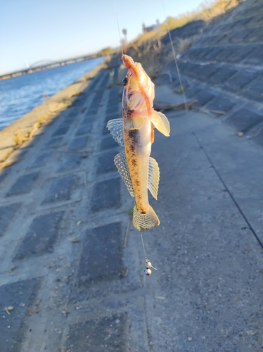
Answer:
POLYGON ((77 96, 81 94, 84 89, 89 87, 94 77, 96 77, 103 68, 107 67, 107 62, 108 61, 105 60, 103 63, 96 66, 96 68, 77 78, 77 80, 68 87, 53 94, 50 99, 39 104, 33 108, 32 111, 12 122, 11 125, 4 127, 4 129, 0 131, 0 169, 10 165, 10 163, 6 162, 6 159, 25 142, 32 140, 34 133, 39 127, 42 127, 46 122, 51 122, 51 120, 55 119, 62 111, 71 106, 77 96))

